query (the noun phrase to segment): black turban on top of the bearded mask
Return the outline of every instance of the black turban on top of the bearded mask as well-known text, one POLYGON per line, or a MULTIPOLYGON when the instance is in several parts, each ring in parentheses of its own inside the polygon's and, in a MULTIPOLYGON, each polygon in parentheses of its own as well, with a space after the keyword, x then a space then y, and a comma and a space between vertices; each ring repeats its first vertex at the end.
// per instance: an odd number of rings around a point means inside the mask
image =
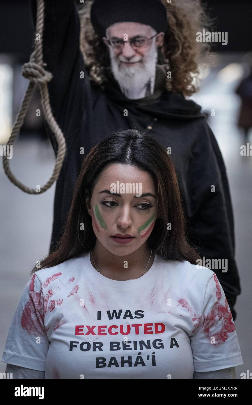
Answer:
POLYGON ((96 34, 106 36, 106 29, 119 22, 136 22, 165 32, 166 8, 160 0, 94 0, 91 7, 91 22, 96 34))

